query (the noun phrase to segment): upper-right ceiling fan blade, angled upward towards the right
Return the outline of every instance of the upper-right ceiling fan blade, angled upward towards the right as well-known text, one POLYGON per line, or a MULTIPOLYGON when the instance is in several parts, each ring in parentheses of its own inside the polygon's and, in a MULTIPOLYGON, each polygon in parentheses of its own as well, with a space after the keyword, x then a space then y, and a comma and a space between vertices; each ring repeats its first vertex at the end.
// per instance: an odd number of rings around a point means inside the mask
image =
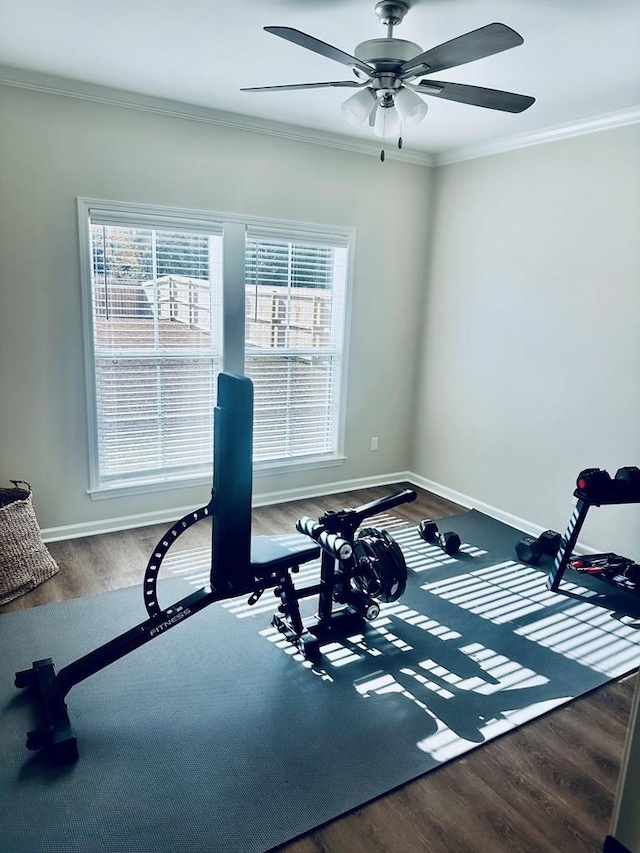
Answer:
POLYGON ((408 59, 400 66, 400 70, 403 78, 415 77, 418 74, 432 74, 509 50, 511 47, 522 44, 523 41, 522 36, 506 24, 487 24, 486 27, 472 30, 466 35, 458 36, 414 56, 413 59, 408 59), (420 68, 426 70, 420 71, 420 68))

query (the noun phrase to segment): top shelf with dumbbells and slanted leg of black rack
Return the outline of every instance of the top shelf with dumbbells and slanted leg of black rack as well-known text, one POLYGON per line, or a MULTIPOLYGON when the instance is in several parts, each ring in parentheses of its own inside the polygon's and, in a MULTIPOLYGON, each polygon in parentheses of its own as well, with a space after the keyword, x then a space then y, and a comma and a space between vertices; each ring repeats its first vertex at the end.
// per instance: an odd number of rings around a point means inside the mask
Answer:
MULTIPOLYGON (((577 502, 564 535, 560 539, 553 568, 547 578, 547 589, 557 592, 578 541, 587 513, 593 506, 615 506, 640 503, 640 469, 635 465, 619 468, 615 479, 600 468, 585 468, 578 474, 574 497, 577 502)), ((584 559, 584 558, 583 558, 584 559)))

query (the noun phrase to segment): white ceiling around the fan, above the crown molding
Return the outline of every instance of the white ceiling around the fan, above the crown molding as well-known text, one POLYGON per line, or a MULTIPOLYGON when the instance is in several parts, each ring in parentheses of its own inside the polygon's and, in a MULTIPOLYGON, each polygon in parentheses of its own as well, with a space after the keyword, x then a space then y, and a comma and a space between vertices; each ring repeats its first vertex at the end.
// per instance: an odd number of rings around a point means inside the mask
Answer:
MULTIPOLYGON (((517 30, 520 47, 437 76, 534 95, 536 103, 513 115, 426 98, 426 119, 404 133, 407 149, 438 155, 601 116, 640 118, 640 0, 410 5, 394 35, 423 50, 494 21, 517 30)), ((239 89, 353 79, 348 67, 263 27, 294 27, 352 54, 359 42, 386 34, 374 6, 375 0, 0 0, 0 63, 370 140, 372 130, 342 118, 350 90, 239 89)))

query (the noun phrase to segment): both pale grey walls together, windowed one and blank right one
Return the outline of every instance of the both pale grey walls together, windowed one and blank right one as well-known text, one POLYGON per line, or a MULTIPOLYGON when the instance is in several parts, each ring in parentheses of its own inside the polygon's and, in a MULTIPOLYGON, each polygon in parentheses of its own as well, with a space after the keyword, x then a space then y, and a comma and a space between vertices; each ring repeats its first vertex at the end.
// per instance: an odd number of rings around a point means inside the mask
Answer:
MULTIPOLYGON (((0 110, 0 481, 41 526, 207 499, 86 494, 78 196, 357 229, 347 462, 257 499, 413 471, 562 529, 578 470, 640 463, 639 126, 431 169, 14 87, 0 110)), ((637 520, 583 540, 640 557, 637 520)))

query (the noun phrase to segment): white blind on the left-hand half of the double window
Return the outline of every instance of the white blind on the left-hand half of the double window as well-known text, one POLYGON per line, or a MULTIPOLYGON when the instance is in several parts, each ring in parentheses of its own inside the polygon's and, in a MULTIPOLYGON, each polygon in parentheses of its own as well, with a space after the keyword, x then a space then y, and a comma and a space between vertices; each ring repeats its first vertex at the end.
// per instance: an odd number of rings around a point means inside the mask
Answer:
POLYGON ((99 480, 210 467, 220 234, 92 221, 99 480))

